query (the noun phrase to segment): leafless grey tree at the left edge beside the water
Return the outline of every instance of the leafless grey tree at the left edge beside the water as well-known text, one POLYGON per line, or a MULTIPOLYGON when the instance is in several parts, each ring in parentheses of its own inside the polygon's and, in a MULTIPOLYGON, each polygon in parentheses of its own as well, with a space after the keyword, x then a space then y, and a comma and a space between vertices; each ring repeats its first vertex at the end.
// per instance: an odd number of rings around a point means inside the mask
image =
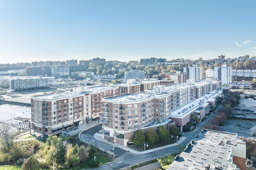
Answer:
POLYGON ((6 144, 8 149, 11 149, 11 145, 13 144, 14 133, 14 130, 9 124, 0 124, 0 138, 2 138, 2 143, 6 144))

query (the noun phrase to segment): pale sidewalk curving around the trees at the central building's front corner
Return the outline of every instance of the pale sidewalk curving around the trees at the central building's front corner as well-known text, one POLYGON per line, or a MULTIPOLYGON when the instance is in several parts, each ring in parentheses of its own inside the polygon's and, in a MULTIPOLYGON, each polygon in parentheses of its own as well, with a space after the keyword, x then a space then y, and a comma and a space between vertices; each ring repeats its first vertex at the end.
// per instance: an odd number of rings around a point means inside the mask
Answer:
MULTIPOLYGON (((115 147, 118 147, 118 148, 122 148, 123 150, 126 150, 126 151, 131 152, 131 153, 134 153, 134 154, 147 154, 147 153, 150 153, 150 152, 154 152, 154 151, 157 151, 157 150, 161 150, 161 149, 169 148, 169 147, 171 147, 171 146, 176 146, 176 145, 178 145, 177 143, 174 143, 174 144, 169 144, 169 145, 161 146, 161 147, 158 147, 158 148, 146 150, 145 152, 144 152, 144 151, 141 151, 141 152, 140 152, 140 151, 133 150, 133 149, 127 147, 127 146, 123 146, 123 145, 118 144, 118 143, 109 142, 109 141, 107 141, 106 139, 103 139, 103 138, 102 138, 102 134, 99 134, 99 133, 95 133, 95 134, 93 135, 93 137, 94 137, 95 139, 97 139, 98 141, 101 141, 101 142, 110 144, 110 145, 115 146, 115 147)), ((179 142, 179 143, 182 143, 185 139, 186 139, 186 137, 181 137, 178 142, 179 142)))

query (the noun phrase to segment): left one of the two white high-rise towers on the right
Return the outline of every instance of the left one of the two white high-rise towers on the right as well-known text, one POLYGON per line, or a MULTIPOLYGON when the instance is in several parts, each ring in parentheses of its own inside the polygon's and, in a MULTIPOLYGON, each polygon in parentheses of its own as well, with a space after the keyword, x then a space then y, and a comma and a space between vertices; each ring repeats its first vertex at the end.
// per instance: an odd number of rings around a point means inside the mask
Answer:
POLYGON ((187 80, 202 80, 202 67, 184 67, 183 72, 187 74, 187 80))

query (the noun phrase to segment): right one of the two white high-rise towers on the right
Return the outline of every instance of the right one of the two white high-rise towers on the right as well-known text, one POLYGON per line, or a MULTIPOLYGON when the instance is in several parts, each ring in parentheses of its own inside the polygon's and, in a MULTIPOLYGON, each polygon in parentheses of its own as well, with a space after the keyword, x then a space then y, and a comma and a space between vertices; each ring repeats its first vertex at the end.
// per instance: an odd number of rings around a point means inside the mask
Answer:
POLYGON ((221 84, 232 83, 232 70, 227 65, 221 67, 214 67, 214 77, 221 81, 221 84))

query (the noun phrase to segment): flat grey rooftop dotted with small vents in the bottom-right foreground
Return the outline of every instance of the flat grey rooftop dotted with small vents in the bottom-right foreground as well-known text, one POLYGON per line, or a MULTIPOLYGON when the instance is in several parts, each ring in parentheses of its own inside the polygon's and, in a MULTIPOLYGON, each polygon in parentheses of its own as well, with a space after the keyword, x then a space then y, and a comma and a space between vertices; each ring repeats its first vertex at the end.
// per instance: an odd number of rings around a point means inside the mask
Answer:
POLYGON ((236 165, 232 163, 231 147, 239 141, 236 137, 236 133, 202 130, 167 170, 203 170, 207 166, 233 170, 236 165))

